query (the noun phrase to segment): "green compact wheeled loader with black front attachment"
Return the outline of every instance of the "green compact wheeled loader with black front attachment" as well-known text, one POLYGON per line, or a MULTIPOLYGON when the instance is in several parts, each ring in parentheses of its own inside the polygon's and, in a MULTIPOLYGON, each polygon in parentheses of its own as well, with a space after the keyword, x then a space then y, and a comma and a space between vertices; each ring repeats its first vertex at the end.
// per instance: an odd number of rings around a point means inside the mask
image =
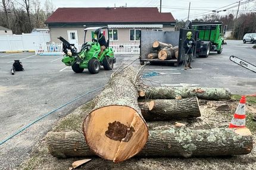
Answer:
POLYGON ((83 43, 80 52, 77 52, 77 48, 74 44, 68 43, 63 37, 58 37, 58 39, 63 42, 63 52, 65 53, 62 62, 66 66, 71 66, 76 73, 82 73, 84 69, 88 69, 90 73, 95 74, 99 72, 101 66, 103 66, 105 70, 112 70, 115 63, 115 57, 113 49, 109 47, 109 37, 108 27, 85 28, 85 42, 83 43), (92 41, 86 42, 86 33, 87 31, 90 31, 92 35, 93 33, 98 33, 97 37, 99 37, 102 30, 107 30, 108 40, 107 47, 100 54, 101 46, 99 44, 99 39, 92 37, 92 41))

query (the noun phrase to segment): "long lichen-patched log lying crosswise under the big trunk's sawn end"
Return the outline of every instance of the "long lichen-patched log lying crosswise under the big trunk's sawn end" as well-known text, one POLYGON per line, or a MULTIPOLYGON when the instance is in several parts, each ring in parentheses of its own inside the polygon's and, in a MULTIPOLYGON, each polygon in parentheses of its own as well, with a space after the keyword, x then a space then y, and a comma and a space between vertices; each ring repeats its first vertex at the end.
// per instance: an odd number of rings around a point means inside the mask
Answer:
MULTIPOLYGON (((49 152, 57 158, 93 156, 79 132, 49 132, 49 152)), ((107 145, 107 142, 106 142, 107 145)), ((186 127, 149 131, 149 138, 138 156, 226 156, 245 155, 252 150, 249 129, 191 130, 186 127)))

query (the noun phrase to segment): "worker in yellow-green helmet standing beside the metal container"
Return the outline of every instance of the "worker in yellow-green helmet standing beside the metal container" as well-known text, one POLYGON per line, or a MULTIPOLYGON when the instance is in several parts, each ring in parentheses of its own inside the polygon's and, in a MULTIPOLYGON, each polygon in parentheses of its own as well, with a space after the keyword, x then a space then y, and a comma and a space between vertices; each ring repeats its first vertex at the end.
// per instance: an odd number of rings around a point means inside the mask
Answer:
POLYGON ((188 68, 192 69, 191 67, 191 61, 192 61, 192 55, 193 55, 192 47, 196 45, 195 40, 192 38, 191 31, 188 31, 186 36, 187 38, 183 43, 183 47, 185 49, 185 70, 188 68))

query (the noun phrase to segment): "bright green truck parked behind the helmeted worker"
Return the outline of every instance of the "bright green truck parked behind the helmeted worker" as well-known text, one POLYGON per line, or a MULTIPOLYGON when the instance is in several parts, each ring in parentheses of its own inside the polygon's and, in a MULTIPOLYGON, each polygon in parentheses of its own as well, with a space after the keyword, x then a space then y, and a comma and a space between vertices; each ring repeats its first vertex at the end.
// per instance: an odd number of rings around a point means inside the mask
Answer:
POLYGON ((221 22, 193 23, 192 29, 198 30, 196 54, 199 57, 208 57, 210 52, 220 54, 223 50, 224 39, 221 35, 221 22))

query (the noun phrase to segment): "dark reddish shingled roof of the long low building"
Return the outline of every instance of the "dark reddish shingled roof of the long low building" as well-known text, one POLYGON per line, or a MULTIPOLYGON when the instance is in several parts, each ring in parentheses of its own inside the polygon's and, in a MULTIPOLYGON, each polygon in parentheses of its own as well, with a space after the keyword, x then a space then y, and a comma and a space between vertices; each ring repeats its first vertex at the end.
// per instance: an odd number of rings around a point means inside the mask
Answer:
POLYGON ((58 8, 45 22, 61 23, 175 23, 173 15, 143 8, 58 8))

